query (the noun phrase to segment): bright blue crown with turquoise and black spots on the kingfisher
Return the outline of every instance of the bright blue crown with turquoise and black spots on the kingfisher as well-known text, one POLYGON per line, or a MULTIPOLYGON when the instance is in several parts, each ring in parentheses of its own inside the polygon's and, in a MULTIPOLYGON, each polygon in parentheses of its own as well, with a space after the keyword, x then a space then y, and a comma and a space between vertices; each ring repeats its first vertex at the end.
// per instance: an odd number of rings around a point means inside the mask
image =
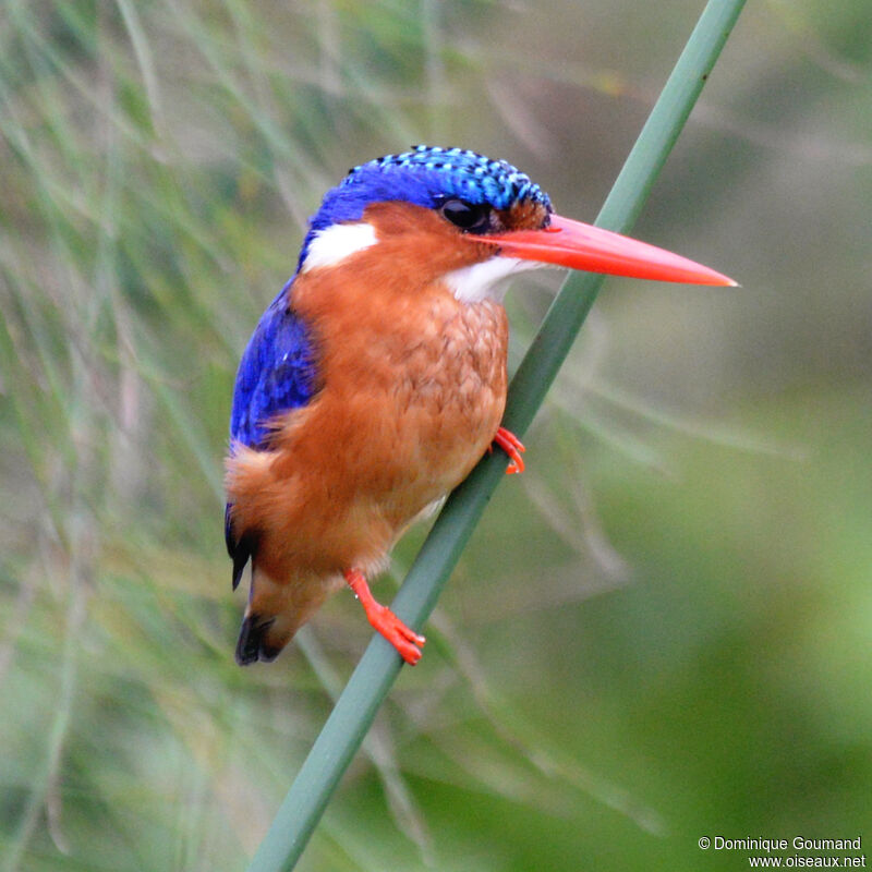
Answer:
POLYGON ((436 208, 450 197, 472 204, 486 203, 495 209, 532 203, 552 210, 548 195, 506 160, 492 160, 468 148, 419 145, 411 152, 386 155, 354 167, 327 192, 320 208, 310 219, 298 270, 315 233, 339 221, 359 221, 371 203, 401 199, 436 208))

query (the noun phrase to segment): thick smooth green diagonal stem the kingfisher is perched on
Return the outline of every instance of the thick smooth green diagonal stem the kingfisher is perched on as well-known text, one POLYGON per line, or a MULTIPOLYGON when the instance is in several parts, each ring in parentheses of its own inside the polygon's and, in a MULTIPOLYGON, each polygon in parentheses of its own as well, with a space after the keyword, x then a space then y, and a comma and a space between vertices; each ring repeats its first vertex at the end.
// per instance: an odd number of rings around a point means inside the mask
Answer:
MULTIPOLYGON (((744 0, 710 0, 596 219, 627 232, 726 43, 744 0)), ((569 353, 603 277, 573 272, 555 299, 509 389, 505 425, 523 434, 569 353)), ((392 603, 411 627, 427 619, 491 495, 506 471, 485 457, 445 504, 392 603)), ((400 670, 390 643, 375 634, 291 785, 249 872, 291 870, 400 670)))

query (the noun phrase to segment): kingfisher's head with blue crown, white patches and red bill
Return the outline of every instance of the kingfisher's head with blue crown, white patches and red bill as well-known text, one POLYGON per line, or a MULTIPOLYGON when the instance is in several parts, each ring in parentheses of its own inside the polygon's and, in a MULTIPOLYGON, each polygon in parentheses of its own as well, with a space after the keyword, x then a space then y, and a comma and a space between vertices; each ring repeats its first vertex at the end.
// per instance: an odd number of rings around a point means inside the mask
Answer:
POLYGON ((559 266, 698 284, 719 272, 555 214, 548 195, 505 160, 420 145, 352 169, 310 221, 299 272, 373 245, 391 268, 440 280, 464 302, 499 299, 501 279, 559 266))

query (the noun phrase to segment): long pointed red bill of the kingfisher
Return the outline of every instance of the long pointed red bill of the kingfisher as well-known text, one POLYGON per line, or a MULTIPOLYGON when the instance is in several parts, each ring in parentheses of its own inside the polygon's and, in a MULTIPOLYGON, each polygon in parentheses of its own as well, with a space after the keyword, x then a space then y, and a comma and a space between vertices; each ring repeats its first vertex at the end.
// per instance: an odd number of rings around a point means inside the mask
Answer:
POLYGON ((467 239, 498 245, 505 257, 557 264, 588 272, 689 284, 736 284, 727 276, 687 257, 559 215, 552 215, 549 226, 543 230, 469 234, 467 239))

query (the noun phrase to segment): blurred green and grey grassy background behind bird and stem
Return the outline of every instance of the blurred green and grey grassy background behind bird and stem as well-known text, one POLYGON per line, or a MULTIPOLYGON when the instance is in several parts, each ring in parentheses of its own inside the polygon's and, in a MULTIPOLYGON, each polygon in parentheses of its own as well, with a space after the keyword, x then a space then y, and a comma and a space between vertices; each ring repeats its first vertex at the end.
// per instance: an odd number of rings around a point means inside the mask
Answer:
MULTIPOLYGON (((244 868, 370 635, 232 661, 232 379, 306 217, 428 142, 592 219, 702 5, 5 0, 1 869, 244 868)), ((608 281, 301 869, 865 835, 870 133, 868 1, 749 3, 635 229, 742 287, 608 281)))

